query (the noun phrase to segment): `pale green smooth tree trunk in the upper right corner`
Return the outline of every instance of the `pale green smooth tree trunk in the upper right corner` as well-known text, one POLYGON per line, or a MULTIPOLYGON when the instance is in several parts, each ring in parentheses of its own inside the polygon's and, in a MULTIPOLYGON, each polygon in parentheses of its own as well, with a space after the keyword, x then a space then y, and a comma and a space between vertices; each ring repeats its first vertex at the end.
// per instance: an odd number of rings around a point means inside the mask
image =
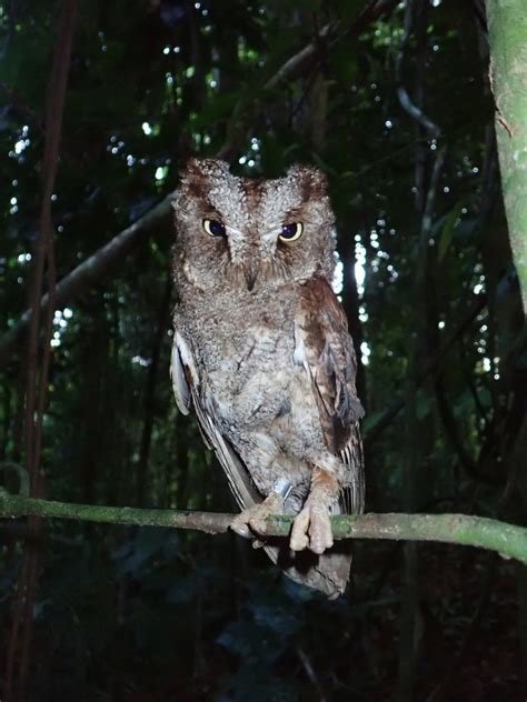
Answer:
POLYGON ((487 0, 490 79, 510 244, 527 310, 527 12, 525 0, 487 0))

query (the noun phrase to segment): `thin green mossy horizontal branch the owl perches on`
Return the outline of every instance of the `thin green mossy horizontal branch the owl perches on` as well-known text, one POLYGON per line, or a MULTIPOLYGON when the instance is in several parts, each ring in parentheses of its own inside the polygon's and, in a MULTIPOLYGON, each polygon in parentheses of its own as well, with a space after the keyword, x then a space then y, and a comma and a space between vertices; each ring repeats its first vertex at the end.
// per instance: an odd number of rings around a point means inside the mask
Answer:
MULTIPOLYGON (((27 514, 84 522, 193 529, 209 534, 225 533, 233 514, 188 510, 143 510, 130 507, 71 504, 11 495, 0 488, 0 517, 27 514)), ((266 536, 287 536, 292 517, 270 517, 266 536)), ((388 539, 395 541, 440 541, 496 551, 527 564, 527 528, 467 514, 362 514, 331 518, 335 539, 388 539)))

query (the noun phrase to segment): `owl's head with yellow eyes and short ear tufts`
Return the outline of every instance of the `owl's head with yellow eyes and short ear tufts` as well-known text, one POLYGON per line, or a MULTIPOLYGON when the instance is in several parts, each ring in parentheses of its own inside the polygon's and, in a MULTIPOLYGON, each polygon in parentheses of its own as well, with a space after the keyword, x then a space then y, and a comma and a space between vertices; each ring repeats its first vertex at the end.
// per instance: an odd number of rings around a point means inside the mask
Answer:
POLYGON ((248 292, 335 267, 334 214, 324 174, 294 166, 285 178, 237 178, 223 161, 192 159, 173 208, 175 269, 181 292, 248 292))

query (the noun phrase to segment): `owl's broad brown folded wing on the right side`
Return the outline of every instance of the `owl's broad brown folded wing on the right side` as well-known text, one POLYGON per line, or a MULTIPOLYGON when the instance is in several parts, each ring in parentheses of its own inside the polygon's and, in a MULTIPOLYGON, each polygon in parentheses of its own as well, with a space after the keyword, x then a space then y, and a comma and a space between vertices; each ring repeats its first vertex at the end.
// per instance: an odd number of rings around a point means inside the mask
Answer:
POLYGON ((325 278, 302 285, 295 329, 295 360, 311 378, 325 443, 349 467, 342 510, 360 512, 364 460, 358 421, 364 410, 355 387, 357 359, 346 314, 325 278))

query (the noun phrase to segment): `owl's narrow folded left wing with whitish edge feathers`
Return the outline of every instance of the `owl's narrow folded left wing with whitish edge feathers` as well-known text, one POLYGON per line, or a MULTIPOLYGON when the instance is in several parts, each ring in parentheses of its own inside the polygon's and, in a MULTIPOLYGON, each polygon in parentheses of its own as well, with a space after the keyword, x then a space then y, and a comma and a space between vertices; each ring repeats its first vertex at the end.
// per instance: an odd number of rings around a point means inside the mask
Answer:
POLYGON ((247 508, 260 502, 247 469, 218 428, 213 403, 203 400, 191 345, 178 331, 173 338, 170 377, 179 411, 188 414, 193 407, 203 441, 208 449, 215 450, 238 504, 247 508))

